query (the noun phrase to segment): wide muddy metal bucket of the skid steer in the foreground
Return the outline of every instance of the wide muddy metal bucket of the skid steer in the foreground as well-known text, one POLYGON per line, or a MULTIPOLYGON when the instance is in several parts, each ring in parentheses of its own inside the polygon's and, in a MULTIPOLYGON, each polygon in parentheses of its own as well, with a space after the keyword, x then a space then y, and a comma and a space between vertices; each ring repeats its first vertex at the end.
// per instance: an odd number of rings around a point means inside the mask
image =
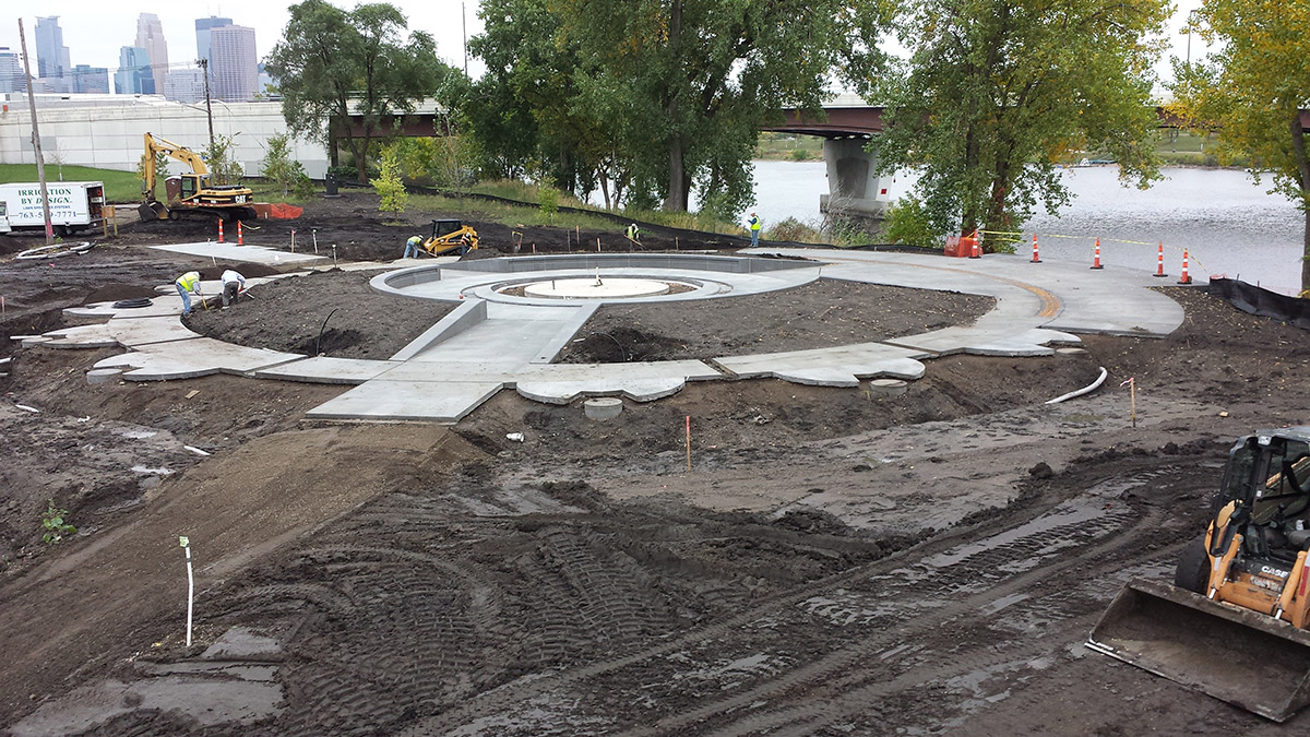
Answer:
POLYGON ((1155 581, 1124 586, 1087 647, 1275 721, 1310 702, 1310 632, 1155 581))

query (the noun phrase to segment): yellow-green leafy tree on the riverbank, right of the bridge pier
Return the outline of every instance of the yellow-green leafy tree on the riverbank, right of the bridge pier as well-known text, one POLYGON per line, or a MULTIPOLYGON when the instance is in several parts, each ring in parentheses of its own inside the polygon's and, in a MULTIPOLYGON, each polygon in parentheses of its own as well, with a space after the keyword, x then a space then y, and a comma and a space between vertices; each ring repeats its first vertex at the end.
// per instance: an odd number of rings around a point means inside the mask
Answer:
POLYGON ((907 0, 909 60, 878 98, 879 170, 916 167, 916 219, 938 232, 1015 231, 1069 193, 1056 163, 1106 151, 1148 186, 1150 63, 1167 0, 907 0))

